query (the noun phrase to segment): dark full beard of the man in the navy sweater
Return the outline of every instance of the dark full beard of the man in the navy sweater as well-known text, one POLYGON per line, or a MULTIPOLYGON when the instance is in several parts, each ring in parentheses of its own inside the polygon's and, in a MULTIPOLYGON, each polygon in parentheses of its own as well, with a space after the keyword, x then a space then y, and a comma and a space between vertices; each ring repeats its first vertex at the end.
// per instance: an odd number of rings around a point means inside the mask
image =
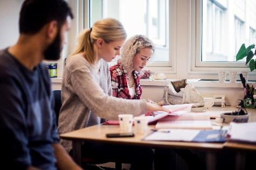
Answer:
POLYGON ((60 32, 57 33, 56 38, 53 40, 51 45, 44 51, 45 60, 59 60, 61 52, 60 32))

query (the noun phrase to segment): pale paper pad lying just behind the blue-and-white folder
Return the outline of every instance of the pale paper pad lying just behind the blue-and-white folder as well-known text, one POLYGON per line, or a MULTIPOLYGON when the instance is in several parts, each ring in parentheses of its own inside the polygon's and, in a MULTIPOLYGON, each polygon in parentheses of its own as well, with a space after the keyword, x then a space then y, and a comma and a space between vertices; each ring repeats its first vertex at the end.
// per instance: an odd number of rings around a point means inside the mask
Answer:
POLYGON ((172 121, 159 120, 156 129, 212 129, 211 121, 172 121))

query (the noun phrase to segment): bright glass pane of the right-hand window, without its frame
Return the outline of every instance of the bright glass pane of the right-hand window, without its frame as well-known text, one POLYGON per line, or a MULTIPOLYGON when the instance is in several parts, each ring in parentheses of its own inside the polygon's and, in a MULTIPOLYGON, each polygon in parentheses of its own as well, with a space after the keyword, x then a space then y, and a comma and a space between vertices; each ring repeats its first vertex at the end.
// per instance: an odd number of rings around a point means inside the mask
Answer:
POLYGON ((245 43, 247 47, 255 42, 256 2, 254 0, 202 0, 201 2, 201 61, 236 61, 236 54, 241 45, 245 43))

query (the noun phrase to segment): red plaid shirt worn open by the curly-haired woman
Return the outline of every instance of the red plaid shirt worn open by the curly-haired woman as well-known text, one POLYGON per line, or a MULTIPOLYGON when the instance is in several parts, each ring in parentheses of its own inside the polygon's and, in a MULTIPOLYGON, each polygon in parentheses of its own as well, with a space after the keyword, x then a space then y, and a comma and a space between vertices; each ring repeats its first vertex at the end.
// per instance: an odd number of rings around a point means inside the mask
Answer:
MULTIPOLYGON (((129 89, 127 85, 128 75, 126 69, 124 69, 124 66, 120 65, 120 63, 117 63, 116 65, 110 67, 109 71, 111 76, 113 96, 123 99, 132 99, 129 94, 129 89)), ((139 73, 134 70, 132 72, 132 75, 134 76, 135 85, 135 94, 133 99, 141 99, 142 86, 140 85, 139 73)))

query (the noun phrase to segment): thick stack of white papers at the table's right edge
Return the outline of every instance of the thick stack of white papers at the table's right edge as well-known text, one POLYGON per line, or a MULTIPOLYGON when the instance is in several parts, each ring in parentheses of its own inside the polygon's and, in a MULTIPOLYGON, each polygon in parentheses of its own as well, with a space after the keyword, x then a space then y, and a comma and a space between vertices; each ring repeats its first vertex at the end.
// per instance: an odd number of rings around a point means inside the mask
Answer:
POLYGON ((228 132, 231 141, 245 141, 256 143, 256 122, 230 123, 231 129, 228 132))

